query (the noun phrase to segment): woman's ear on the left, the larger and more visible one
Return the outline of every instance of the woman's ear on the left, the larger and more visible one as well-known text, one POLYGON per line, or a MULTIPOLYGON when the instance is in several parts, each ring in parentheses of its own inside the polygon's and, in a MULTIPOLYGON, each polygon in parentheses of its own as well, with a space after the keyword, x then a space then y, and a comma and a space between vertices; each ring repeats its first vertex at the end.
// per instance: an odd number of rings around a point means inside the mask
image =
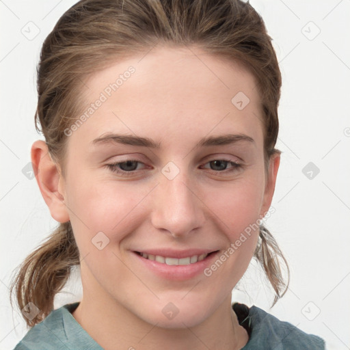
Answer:
POLYGON ((49 206, 51 216, 61 223, 69 221, 64 203, 63 178, 44 141, 37 140, 31 146, 31 163, 42 198, 49 206))

